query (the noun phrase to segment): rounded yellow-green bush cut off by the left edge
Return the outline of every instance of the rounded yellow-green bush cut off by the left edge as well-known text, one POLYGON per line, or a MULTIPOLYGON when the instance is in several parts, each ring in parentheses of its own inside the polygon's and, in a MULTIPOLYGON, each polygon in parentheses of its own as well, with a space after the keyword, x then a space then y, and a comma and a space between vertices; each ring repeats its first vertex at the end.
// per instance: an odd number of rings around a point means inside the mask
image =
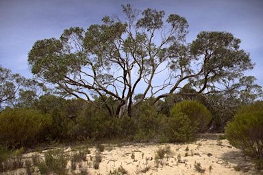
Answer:
POLYGON ((33 109, 5 109, 0 113, 0 143, 32 147, 45 141, 52 118, 33 109))

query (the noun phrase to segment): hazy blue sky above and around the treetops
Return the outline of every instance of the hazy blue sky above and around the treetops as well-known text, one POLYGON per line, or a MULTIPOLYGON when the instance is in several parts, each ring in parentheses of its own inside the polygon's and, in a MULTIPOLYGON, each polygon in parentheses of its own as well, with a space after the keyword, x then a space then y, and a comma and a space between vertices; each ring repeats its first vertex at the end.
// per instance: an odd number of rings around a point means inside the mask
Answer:
POLYGON ((263 86, 262 0, 0 0, 0 64, 14 73, 32 78, 27 53, 34 42, 59 38, 64 29, 101 23, 103 16, 122 14, 121 4, 179 14, 188 21, 187 41, 200 31, 229 31, 242 40, 250 53, 255 76, 263 86))

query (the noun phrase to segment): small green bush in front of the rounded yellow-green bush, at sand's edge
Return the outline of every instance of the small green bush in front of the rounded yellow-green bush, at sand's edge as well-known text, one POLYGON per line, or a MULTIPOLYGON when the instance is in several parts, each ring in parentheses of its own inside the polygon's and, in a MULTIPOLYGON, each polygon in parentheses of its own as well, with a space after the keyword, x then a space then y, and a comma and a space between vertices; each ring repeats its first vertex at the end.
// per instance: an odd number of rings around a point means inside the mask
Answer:
POLYGON ((171 117, 163 117, 160 122, 159 142, 191 142, 195 139, 196 126, 184 113, 173 113, 171 117))

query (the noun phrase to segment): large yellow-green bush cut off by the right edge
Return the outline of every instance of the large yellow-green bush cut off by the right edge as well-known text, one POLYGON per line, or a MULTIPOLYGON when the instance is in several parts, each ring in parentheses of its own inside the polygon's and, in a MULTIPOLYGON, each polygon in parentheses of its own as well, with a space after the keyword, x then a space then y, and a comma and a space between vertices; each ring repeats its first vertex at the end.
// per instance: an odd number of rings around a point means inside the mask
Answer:
POLYGON ((227 123, 225 134, 232 146, 253 157, 263 169, 263 102, 242 107, 227 123))

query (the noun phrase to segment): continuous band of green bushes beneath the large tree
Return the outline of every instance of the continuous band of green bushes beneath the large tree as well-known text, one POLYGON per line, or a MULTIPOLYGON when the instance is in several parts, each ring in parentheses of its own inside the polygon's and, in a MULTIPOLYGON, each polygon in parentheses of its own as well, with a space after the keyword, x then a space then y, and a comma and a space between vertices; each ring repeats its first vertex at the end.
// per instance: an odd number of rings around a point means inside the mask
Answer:
POLYGON ((202 131, 208 129, 211 120, 208 109, 197 101, 182 101, 192 109, 191 116, 177 105, 166 116, 151 105, 151 100, 146 100, 134 111, 132 118, 112 118, 99 103, 42 96, 30 108, 5 109, 0 113, 0 143, 9 148, 34 148, 42 143, 107 139, 191 142, 201 131, 199 116, 208 121, 201 126, 202 131), (194 118, 198 120, 195 122, 194 118))

